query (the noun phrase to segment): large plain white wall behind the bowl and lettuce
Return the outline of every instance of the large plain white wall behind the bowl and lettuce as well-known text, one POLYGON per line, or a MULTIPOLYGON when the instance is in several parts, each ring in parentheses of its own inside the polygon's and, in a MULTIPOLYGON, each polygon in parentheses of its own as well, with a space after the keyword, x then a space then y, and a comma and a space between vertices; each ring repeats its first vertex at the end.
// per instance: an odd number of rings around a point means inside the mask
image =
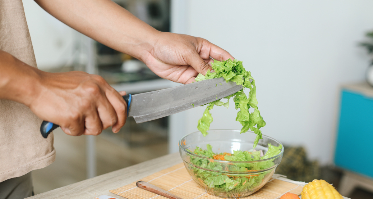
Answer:
MULTIPOLYGON (((257 83, 263 134, 332 162, 338 85, 364 80, 369 58, 357 42, 373 29, 373 1, 173 0, 174 6, 183 3, 177 9, 186 10, 184 17, 173 12, 173 31, 206 38, 244 62, 257 83), (186 21, 186 31, 176 19, 186 21)), ((203 111, 185 111, 170 142, 197 131, 203 111)), ((233 106, 211 113, 210 129, 241 128, 233 106)))

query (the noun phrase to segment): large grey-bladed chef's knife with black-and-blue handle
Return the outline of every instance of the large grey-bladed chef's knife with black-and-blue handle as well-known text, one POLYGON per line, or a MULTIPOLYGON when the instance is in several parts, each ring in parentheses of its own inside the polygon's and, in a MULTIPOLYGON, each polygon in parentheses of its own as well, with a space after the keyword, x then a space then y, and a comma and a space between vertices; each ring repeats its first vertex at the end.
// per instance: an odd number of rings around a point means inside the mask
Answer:
MULTIPOLYGON (((159 91, 127 94, 123 98, 127 102, 128 117, 134 117, 136 123, 141 123, 222 99, 241 89, 243 86, 236 85, 235 82, 215 78, 159 91)), ((41 135, 47 138, 57 127, 57 124, 43 121, 40 127, 41 135)))

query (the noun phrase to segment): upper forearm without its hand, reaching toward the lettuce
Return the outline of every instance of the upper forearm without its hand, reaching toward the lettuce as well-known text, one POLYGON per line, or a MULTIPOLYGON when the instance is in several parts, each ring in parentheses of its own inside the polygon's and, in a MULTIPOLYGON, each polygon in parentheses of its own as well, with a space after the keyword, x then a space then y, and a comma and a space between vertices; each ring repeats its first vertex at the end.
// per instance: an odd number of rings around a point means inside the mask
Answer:
POLYGON ((111 0, 35 0, 44 10, 82 34, 142 60, 157 31, 111 0))

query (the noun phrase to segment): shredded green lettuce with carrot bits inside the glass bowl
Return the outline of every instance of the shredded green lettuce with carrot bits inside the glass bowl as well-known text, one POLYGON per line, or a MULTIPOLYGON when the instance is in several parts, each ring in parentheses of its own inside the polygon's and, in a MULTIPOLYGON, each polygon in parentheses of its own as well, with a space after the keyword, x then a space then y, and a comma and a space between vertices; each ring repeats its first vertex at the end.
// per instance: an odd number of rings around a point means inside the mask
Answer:
POLYGON ((270 177, 267 176, 267 174, 272 173, 275 168, 273 168, 273 170, 264 172, 260 172, 260 170, 273 167, 275 165, 273 163, 274 159, 252 163, 229 162, 226 164, 214 161, 214 159, 217 159, 216 156, 221 155, 226 161, 255 161, 272 158, 280 154, 281 149, 282 145, 273 146, 268 144, 268 151, 263 157, 260 157, 260 151, 233 151, 233 154, 217 154, 212 151, 212 146, 207 144, 206 150, 203 150, 200 147, 196 147, 194 151, 188 150, 189 152, 199 156, 210 158, 210 160, 206 160, 190 155, 190 162, 192 165, 188 163, 188 171, 192 177, 204 183, 207 187, 219 190, 221 189, 225 192, 242 192, 244 190, 250 190, 259 186, 265 178, 270 177), (195 167, 194 165, 198 166, 199 168, 195 167), (215 170, 217 172, 211 170, 215 170), (223 173, 222 171, 226 171, 226 173, 223 173), (254 174, 234 174, 234 172, 247 171, 252 171, 254 174), (255 171, 258 172, 255 173, 255 171))

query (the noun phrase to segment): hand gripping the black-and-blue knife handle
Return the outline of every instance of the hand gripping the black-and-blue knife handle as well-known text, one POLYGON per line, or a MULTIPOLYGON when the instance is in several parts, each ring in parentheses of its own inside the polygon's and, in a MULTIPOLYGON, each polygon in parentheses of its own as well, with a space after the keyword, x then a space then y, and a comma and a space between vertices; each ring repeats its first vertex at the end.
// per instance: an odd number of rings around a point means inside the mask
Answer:
POLYGON ((101 76, 74 71, 40 72, 38 92, 27 104, 41 119, 58 124, 68 135, 98 135, 125 124, 126 102, 101 76))

